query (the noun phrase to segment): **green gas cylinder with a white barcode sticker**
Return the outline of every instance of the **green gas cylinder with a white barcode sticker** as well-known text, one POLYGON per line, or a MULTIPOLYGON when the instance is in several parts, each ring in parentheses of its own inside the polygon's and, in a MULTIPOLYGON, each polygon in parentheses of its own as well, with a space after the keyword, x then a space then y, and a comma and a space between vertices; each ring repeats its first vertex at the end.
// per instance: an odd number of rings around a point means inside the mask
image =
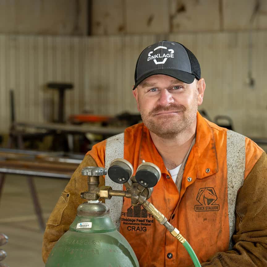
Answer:
POLYGON ((139 267, 127 240, 117 231, 108 206, 88 201, 77 208, 70 229, 52 249, 46 267, 139 267))

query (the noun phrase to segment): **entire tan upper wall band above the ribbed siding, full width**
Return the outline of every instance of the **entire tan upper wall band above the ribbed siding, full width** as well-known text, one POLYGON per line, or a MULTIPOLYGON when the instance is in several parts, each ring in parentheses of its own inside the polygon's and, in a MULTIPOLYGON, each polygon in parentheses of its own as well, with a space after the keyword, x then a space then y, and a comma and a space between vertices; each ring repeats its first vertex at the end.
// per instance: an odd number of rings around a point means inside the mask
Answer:
POLYGON ((86 36, 88 22, 92 35, 266 30, 267 0, 0 1, 0 33, 86 36))

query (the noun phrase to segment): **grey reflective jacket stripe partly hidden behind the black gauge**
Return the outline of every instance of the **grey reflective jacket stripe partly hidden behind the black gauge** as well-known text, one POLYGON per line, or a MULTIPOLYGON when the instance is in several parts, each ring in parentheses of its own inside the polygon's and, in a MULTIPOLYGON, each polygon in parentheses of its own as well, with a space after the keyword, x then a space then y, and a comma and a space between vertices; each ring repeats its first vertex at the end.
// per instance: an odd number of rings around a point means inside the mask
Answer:
MULTIPOLYGON (((124 133, 114 135, 106 141, 105 168, 108 169, 114 159, 123 159, 124 156, 124 133)), ((111 186, 113 190, 123 190, 123 184, 117 184, 109 179, 108 174, 105 176, 105 185, 111 186)), ((121 210, 123 205, 122 197, 112 197, 106 199, 105 203, 109 206, 110 217, 115 223, 117 229, 120 228, 121 210)))

